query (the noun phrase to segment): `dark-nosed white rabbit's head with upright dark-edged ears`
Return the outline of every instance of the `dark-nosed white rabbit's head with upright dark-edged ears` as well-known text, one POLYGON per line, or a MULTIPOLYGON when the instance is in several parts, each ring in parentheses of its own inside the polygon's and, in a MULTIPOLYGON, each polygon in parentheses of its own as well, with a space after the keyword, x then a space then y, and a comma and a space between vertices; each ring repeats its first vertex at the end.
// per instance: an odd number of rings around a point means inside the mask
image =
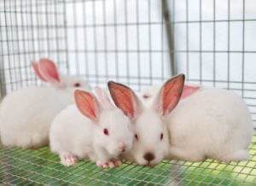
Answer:
POLYGON ((154 166, 166 158, 169 153, 169 137, 165 119, 177 105, 182 95, 183 83, 183 74, 169 79, 154 97, 154 103, 145 107, 129 87, 108 82, 113 102, 134 125, 135 141, 125 158, 135 160, 143 166, 154 166))

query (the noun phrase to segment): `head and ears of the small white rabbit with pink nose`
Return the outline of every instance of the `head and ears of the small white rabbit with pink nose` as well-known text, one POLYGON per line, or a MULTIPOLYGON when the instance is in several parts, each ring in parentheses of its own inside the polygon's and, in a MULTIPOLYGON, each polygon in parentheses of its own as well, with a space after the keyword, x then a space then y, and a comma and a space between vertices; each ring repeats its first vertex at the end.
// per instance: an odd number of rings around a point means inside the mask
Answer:
POLYGON ((99 87, 95 90, 98 99, 89 92, 76 90, 76 105, 96 125, 94 144, 105 148, 108 154, 118 156, 131 149, 131 122, 119 108, 111 104, 104 90, 99 87))

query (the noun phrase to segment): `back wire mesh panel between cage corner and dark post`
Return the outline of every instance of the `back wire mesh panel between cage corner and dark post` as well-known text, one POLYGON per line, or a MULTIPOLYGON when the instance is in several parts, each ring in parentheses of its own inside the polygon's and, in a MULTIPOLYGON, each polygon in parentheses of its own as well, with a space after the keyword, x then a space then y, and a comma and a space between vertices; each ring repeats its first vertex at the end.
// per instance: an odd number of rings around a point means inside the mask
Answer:
POLYGON ((113 79, 137 90, 170 77, 158 1, 68 1, 66 14, 71 73, 93 84, 113 79))

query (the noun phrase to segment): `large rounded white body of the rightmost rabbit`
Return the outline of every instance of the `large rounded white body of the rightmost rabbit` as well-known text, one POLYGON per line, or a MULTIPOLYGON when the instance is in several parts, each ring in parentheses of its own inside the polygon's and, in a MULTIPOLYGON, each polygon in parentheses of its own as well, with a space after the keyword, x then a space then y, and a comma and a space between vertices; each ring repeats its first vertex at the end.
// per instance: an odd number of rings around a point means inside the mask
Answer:
POLYGON ((230 90, 206 89, 170 114, 170 158, 189 161, 247 160, 253 121, 246 103, 230 90))

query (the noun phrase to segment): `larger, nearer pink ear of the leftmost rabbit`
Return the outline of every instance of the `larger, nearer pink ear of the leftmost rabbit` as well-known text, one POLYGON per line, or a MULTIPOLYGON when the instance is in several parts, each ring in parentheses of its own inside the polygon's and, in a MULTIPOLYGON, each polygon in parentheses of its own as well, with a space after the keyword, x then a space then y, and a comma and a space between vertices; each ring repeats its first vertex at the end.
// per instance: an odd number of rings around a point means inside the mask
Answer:
POLYGON ((61 83, 60 75, 53 61, 47 58, 40 59, 38 69, 47 82, 55 85, 61 83))

